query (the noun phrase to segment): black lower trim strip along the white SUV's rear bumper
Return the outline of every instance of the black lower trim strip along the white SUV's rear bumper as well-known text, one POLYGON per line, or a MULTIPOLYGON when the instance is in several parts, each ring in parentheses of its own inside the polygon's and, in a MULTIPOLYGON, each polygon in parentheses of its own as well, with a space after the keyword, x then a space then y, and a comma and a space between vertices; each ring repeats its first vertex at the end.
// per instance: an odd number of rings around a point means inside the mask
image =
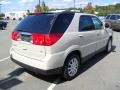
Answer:
POLYGON ((36 67, 29 66, 29 65, 24 64, 24 63, 22 63, 22 62, 19 62, 19 61, 13 59, 12 56, 11 56, 11 60, 12 60, 14 63, 20 65, 21 67, 24 67, 24 68, 26 68, 26 69, 28 69, 28 70, 30 70, 30 71, 32 71, 32 72, 38 73, 38 74, 43 74, 43 75, 56 75, 56 74, 61 74, 61 73, 62 73, 62 67, 56 68, 56 69, 51 69, 51 70, 41 70, 41 69, 38 69, 38 68, 36 68, 36 67))

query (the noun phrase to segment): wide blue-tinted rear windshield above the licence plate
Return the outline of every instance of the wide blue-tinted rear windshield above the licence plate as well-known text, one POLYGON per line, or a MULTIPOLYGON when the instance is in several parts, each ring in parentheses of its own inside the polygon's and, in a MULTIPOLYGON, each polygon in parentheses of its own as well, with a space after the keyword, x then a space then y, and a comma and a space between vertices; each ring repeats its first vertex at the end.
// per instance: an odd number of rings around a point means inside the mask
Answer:
POLYGON ((17 27, 16 31, 47 34, 53 23, 54 14, 29 15, 17 27))

